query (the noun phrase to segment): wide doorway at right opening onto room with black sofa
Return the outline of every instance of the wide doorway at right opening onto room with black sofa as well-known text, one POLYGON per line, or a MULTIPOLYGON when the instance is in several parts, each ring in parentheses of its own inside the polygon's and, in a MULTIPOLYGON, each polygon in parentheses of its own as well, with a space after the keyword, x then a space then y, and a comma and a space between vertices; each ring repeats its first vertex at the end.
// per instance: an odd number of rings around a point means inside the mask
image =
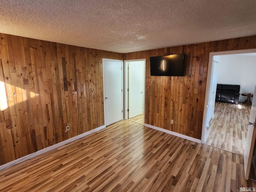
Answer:
MULTIPOLYGON (((250 58, 250 65, 254 68, 254 66, 256 67, 252 63, 256 56, 254 52, 255 49, 210 53, 202 143, 242 156, 244 155, 251 106, 243 104, 242 101, 245 98, 241 95, 238 104, 215 103, 215 95, 217 83, 239 84, 241 85, 240 93, 253 89, 250 86, 248 87, 248 84, 251 82, 250 84, 253 87, 255 80, 249 81, 250 78, 248 78, 248 71, 245 67, 246 63, 242 62, 242 58, 253 57, 250 58), (240 59, 241 62, 238 62, 234 58, 240 59), (229 59, 231 61, 228 61, 229 59), (209 134, 211 135, 209 136, 209 134)), ((246 61, 248 60, 246 59, 246 61)), ((253 68, 251 68, 252 71, 254 71, 253 68)))

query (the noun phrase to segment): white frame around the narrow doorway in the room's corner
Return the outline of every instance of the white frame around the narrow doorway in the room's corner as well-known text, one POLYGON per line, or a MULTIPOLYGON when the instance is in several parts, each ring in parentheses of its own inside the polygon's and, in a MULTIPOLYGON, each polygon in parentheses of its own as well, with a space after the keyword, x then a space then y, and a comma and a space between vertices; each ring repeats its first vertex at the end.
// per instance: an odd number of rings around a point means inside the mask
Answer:
MULTIPOLYGON (((128 119, 128 65, 126 62, 133 62, 133 61, 144 61, 144 114, 145 114, 145 98, 146 98, 146 59, 133 59, 133 60, 124 60, 124 119, 128 119)), ((145 115, 143 115, 143 122, 145 122, 145 115)))

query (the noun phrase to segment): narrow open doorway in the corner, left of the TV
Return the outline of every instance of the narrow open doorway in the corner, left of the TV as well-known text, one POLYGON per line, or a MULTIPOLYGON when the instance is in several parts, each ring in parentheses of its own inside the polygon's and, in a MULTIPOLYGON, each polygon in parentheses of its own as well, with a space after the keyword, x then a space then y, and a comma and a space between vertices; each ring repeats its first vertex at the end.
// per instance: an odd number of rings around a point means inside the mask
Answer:
POLYGON ((144 124, 146 59, 125 60, 124 118, 144 124))

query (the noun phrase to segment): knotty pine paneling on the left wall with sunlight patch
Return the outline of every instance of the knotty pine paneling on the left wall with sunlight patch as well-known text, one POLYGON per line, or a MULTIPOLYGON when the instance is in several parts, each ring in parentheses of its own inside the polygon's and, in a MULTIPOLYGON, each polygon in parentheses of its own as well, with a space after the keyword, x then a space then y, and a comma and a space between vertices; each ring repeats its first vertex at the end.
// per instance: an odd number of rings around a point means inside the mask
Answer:
POLYGON ((0 165, 104 125, 102 58, 123 54, 0 34, 0 165))

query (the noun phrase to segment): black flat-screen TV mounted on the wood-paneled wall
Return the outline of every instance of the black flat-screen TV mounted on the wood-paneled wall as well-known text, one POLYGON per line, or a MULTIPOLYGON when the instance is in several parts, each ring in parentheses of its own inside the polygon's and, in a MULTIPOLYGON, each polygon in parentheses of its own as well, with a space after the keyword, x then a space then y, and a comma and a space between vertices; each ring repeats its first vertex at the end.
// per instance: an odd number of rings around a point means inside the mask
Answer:
POLYGON ((150 57, 151 76, 184 76, 184 55, 150 57))

